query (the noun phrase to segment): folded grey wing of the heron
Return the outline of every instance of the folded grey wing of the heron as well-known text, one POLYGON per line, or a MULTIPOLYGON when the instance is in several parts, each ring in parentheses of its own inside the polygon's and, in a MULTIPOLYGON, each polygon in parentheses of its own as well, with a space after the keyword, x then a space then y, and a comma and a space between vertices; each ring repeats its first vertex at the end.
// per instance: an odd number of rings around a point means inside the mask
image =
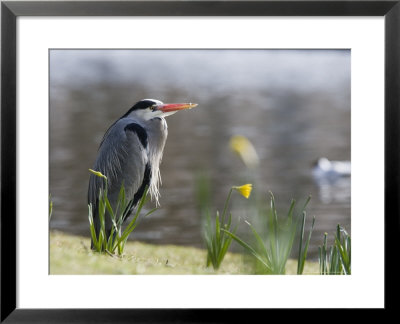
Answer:
MULTIPOLYGON (((139 200, 137 197, 141 191, 143 195, 151 173, 145 129, 127 118, 116 122, 103 139, 93 169, 107 177, 108 198, 113 208, 116 207, 122 184, 128 201, 139 200)), ((99 190, 103 185, 102 178, 90 175, 89 203, 97 206, 99 190)))

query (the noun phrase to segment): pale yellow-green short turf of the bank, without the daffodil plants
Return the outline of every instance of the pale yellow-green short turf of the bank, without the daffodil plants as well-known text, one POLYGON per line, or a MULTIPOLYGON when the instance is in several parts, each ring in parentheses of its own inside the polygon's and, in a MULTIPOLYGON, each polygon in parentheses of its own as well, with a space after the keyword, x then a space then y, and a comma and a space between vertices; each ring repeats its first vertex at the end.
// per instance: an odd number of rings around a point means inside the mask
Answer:
MULTIPOLYGON (((241 254, 227 253, 218 271, 205 266, 207 251, 175 245, 127 242, 122 258, 90 250, 90 239, 50 232, 50 274, 254 274, 252 262, 241 254)), ((296 274, 289 260, 287 274, 296 274)), ((304 274, 318 273, 317 263, 306 263, 304 274)))

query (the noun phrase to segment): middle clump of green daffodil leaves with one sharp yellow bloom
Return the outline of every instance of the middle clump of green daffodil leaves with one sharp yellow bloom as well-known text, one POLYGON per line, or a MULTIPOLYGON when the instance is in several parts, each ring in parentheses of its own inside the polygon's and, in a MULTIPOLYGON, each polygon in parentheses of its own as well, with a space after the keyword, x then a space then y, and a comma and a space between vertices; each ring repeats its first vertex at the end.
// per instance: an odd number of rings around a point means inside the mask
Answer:
MULTIPOLYGON (((298 239, 298 257, 297 257, 297 274, 302 274, 304 271, 304 264, 307 258, 309 243, 311 240, 312 231, 314 229, 315 217, 313 217, 311 228, 308 236, 305 236, 305 222, 306 212, 305 209, 311 199, 308 197, 303 208, 301 209, 300 216, 294 216, 294 209, 296 202, 292 200, 287 217, 285 220, 278 218, 278 212, 275 206, 275 198, 270 192, 270 211, 265 212, 262 207, 257 207, 259 217, 266 218, 265 225, 262 232, 258 232, 256 228, 248 221, 247 225, 250 227, 255 244, 252 246, 238 235, 236 231, 238 226, 232 229, 232 215, 229 212, 227 216, 227 208, 230 202, 233 189, 236 189, 244 197, 249 198, 252 191, 252 185, 247 184, 240 187, 231 187, 228 197, 225 200, 225 206, 220 217, 217 211, 215 220, 211 220, 209 213, 210 206, 210 184, 208 177, 201 174, 196 181, 197 201, 201 214, 205 215, 206 223, 204 225, 204 241, 207 247, 207 266, 212 265, 217 270, 223 262, 224 255, 228 251, 232 240, 235 240, 241 245, 246 252, 253 256, 258 262, 259 271, 265 274, 285 274, 286 263, 291 254, 295 237, 299 234, 298 239)), ((263 219, 264 220, 264 219, 263 219)), ((238 224, 239 225, 239 224, 238 224)))

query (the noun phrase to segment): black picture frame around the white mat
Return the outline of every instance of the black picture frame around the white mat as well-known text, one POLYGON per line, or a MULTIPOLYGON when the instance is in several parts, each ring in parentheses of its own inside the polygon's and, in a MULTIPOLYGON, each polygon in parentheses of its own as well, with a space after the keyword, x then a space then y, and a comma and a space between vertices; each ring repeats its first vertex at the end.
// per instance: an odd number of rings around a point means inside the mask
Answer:
MULTIPOLYGON (((396 307, 399 237, 400 0, 396 1, 2 1, 1 2, 1 322, 233 322, 217 309, 18 309, 16 282, 16 19, 19 16, 384 16, 385 309, 396 307), (11 230, 13 229, 13 230, 11 230), (11 243, 10 243, 11 242, 11 243)), ((373 195, 371 188, 371 196, 373 195)), ((367 199, 367 198, 366 198, 367 199)), ((248 314, 247 314, 248 315, 248 314)), ((262 315, 262 314, 255 314, 262 315)), ((253 314, 252 314, 253 316, 253 314)))

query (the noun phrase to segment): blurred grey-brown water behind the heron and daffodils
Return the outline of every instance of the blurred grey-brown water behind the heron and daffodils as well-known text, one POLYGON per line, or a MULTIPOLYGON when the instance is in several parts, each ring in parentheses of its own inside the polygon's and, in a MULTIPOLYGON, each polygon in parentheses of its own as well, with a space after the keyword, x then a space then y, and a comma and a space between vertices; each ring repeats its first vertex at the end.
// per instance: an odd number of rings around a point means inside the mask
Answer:
POLYGON ((351 230, 350 177, 312 173, 320 157, 350 160, 350 59, 349 50, 51 50, 50 228, 90 235, 88 168, 104 132, 136 101, 196 102, 167 117, 161 208, 132 239, 204 247, 196 200, 202 175, 212 212, 223 209, 232 185, 253 183, 249 200, 232 197, 242 233, 252 200, 268 206, 272 191, 284 216, 292 198, 311 195, 315 258, 325 232, 333 238, 337 224, 351 230), (251 141, 257 168, 232 152, 234 135, 251 141))

